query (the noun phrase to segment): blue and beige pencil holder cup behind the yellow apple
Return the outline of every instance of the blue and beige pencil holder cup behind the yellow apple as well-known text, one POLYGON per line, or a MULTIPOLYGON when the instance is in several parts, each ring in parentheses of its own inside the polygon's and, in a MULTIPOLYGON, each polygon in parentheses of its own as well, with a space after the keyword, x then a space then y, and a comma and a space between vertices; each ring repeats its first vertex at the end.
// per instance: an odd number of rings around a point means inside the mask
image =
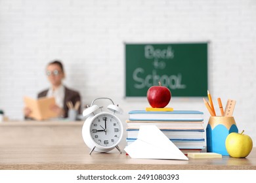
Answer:
POLYGON ((238 133, 234 117, 210 116, 206 127, 207 152, 216 152, 228 156, 226 137, 229 133, 238 133))

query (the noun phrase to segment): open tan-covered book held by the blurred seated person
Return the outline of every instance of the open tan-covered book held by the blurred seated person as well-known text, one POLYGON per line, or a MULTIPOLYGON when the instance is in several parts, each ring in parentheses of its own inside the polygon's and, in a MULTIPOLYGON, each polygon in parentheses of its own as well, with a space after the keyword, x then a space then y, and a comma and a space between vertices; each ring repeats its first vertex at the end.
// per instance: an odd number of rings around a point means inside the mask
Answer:
POLYGON ((51 110, 53 105, 56 105, 54 97, 42 97, 39 99, 24 97, 24 103, 26 107, 32 110, 28 117, 35 120, 47 120, 58 116, 56 112, 51 110))

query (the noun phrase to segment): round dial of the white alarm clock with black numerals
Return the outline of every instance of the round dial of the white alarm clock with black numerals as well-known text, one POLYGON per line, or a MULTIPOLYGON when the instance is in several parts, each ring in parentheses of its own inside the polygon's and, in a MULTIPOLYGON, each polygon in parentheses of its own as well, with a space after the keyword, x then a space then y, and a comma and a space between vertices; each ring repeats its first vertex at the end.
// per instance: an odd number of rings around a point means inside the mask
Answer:
POLYGON ((90 126, 91 138, 103 147, 116 146, 121 141, 123 126, 121 121, 108 112, 96 114, 90 126))

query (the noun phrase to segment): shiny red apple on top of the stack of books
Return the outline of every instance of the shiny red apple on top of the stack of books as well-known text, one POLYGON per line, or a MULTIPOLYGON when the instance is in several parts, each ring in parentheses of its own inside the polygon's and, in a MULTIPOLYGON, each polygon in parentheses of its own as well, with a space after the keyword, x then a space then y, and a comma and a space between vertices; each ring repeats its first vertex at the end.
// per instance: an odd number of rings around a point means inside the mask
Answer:
POLYGON ((148 103, 150 103, 151 107, 163 108, 167 106, 171 100, 171 92, 167 87, 161 86, 161 83, 159 82, 159 86, 151 86, 148 89, 146 97, 148 98, 148 103))

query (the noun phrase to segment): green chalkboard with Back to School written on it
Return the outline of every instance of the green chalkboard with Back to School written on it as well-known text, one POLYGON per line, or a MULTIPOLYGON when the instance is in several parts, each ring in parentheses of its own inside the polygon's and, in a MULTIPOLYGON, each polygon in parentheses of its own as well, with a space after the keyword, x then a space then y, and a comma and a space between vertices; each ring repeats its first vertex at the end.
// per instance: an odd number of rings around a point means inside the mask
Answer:
POLYGON ((125 43, 125 96, 145 97, 159 81, 172 97, 207 96, 207 42, 125 43))

